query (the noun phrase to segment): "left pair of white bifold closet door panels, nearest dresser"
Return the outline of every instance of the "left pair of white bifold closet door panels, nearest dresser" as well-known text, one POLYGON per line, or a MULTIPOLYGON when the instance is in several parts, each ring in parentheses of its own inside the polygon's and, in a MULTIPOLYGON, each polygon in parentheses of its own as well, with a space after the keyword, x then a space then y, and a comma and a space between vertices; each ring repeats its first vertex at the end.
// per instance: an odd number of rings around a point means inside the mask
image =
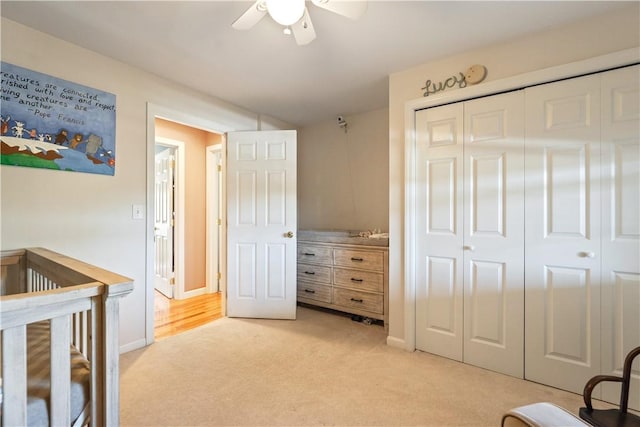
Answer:
POLYGON ((523 376, 523 92, 416 113, 416 347, 523 376))

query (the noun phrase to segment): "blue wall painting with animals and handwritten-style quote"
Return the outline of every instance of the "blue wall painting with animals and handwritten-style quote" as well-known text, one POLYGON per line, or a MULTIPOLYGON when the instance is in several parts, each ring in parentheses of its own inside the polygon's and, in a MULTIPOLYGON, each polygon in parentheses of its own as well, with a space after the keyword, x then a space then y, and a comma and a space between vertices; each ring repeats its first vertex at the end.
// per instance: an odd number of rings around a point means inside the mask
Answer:
POLYGON ((113 175, 116 96, 1 63, 0 163, 113 175))

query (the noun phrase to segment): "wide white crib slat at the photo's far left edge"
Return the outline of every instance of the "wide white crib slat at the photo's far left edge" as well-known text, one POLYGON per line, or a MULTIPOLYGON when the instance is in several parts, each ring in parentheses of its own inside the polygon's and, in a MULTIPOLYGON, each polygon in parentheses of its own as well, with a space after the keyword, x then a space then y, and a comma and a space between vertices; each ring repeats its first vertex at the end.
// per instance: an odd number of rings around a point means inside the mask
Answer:
POLYGON ((2 426, 27 425, 27 326, 2 331, 2 426))

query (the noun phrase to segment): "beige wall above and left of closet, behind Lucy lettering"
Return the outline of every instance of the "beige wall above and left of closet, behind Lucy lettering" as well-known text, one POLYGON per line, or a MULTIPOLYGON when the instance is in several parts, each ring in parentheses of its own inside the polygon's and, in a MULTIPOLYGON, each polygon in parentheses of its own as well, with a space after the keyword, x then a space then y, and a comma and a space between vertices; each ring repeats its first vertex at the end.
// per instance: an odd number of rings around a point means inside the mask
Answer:
MULTIPOLYGON (((422 97, 427 79, 440 82, 483 64, 486 82, 517 76, 530 71, 605 55, 640 44, 640 3, 589 20, 544 33, 530 35, 506 44, 478 49, 429 62, 390 75, 389 80, 389 342, 403 346, 404 309, 404 132, 405 103, 422 97)), ((464 89, 451 89, 464 90, 464 89)))

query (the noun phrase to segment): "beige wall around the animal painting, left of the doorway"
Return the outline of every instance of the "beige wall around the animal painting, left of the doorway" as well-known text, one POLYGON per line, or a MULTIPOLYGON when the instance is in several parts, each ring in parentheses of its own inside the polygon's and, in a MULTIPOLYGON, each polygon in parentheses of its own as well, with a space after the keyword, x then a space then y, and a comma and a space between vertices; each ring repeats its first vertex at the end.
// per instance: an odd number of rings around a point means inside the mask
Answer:
POLYGON ((146 247, 153 235, 147 220, 132 218, 132 205, 147 204, 149 104, 224 130, 289 126, 5 18, 0 30, 2 61, 116 95, 117 157, 115 176, 0 166, 1 248, 43 246, 131 277, 120 344, 123 351, 142 347, 153 287, 146 247))

